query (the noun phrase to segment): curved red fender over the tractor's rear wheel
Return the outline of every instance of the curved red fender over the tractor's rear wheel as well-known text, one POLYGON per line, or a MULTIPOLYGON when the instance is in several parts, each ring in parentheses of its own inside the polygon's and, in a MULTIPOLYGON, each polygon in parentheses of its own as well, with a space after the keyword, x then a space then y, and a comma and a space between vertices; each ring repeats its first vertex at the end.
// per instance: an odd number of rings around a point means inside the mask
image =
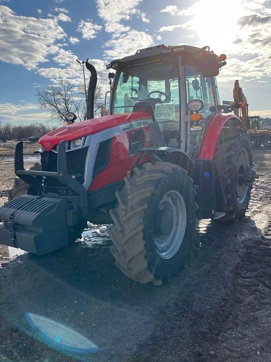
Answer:
POLYGON ((199 158, 214 159, 220 132, 224 124, 232 118, 240 121, 238 117, 232 114, 217 113, 214 116, 204 133, 199 158))

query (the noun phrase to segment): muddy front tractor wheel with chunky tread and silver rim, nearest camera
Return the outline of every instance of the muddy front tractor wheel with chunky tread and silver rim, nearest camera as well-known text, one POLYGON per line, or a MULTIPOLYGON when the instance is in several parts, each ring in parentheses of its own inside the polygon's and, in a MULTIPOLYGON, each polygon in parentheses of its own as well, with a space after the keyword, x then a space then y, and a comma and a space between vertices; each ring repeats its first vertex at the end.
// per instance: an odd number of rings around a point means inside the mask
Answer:
POLYGON ((132 280, 166 282, 186 264, 194 240, 193 180, 169 162, 146 163, 133 171, 110 210, 110 250, 116 266, 132 280))

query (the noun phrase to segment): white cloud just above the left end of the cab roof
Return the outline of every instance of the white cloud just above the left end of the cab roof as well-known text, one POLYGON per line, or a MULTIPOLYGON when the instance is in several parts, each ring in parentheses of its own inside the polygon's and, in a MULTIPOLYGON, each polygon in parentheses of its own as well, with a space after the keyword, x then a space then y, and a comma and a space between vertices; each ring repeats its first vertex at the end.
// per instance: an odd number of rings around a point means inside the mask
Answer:
POLYGON ((138 49, 147 48, 154 44, 153 37, 145 32, 131 30, 105 43, 105 54, 111 58, 122 58, 134 54, 138 49))

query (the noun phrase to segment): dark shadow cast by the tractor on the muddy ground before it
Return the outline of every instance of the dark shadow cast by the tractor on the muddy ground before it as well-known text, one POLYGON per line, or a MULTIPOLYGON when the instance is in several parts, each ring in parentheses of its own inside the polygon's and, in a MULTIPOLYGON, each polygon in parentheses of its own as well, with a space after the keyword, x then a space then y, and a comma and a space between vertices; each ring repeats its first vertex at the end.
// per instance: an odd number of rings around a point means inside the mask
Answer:
POLYGON ((102 347, 91 360, 108 360, 109 355, 133 350, 151 338, 158 311, 165 314, 169 305, 183 305, 192 313, 195 306, 201 308, 204 296, 207 313, 220 298, 214 293, 217 286, 224 288, 230 280, 228 260, 241 252, 252 229, 261 234, 249 217, 231 224, 201 222, 189 265, 160 288, 139 285, 119 272, 105 229, 43 257, 18 255, 3 264, 0 313, 28 333, 26 313, 61 322, 102 347))

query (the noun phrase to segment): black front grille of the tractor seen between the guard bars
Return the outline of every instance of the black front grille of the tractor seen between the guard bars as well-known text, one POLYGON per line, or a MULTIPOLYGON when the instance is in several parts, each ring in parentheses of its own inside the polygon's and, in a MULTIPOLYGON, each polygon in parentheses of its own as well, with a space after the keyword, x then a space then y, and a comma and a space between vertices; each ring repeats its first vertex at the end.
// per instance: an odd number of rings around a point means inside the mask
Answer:
MULTIPOLYGON (((88 147, 75 149, 73 151, 66 152, 67 158, 67 170, 69 174, 75 174, 78 182, 84 183, 85 162, 88 147)), ((43 171, 57 171, 57 153, 53 151, 44 151, 41 153, 41 164, 43 171)), ((45 192, 54 192, 52 188, 56 188, 56 192, 64 190, 66 187, 55 177, 45 177, 43 181, 45 192), (48 188, 48 190, 46 189, 48 188)))

